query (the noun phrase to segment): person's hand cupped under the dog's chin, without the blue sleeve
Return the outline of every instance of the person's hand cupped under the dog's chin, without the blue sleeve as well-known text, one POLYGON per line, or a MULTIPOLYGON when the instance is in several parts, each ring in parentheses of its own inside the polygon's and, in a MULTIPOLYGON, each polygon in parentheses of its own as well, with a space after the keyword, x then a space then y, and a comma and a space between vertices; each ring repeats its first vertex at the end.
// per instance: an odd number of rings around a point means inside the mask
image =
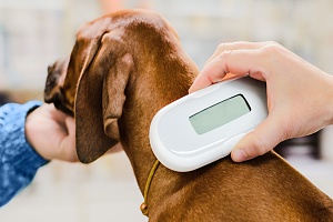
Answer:
POLYGON ((26 137, 47 160, 78 161, 74 120, 53 104, 42 104, 28 114, 26 137))

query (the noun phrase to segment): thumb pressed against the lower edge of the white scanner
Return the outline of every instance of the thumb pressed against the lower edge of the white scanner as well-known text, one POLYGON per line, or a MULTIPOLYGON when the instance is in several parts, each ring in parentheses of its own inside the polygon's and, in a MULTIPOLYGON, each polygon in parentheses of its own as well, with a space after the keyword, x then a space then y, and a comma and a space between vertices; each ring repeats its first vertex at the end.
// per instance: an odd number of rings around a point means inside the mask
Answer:
POLYGON ((234 147, 232 160, 242 162, 269 152, 284 140, 281 129, 279 121, 269 117, 234 147))

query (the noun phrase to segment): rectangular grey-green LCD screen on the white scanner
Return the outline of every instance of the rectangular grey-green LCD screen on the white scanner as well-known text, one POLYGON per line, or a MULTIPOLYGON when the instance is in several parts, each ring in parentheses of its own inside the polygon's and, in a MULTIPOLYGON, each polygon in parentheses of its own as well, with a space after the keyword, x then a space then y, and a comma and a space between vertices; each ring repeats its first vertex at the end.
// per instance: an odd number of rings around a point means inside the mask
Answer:
POLYGON ((242 94, 223 100, 193 115, 190 122, 198 134, 206 133, 224 125, 251 111, 251 108, 242 94))

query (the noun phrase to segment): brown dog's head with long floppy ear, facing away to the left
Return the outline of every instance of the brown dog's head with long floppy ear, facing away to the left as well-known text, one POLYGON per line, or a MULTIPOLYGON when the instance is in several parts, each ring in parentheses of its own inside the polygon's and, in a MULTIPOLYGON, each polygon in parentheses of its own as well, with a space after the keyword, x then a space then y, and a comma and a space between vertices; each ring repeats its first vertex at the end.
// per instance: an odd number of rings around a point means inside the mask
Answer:
MULTIPOLYGON (((74 112, 77 151, 81 162, 94 161, 119 142, 118 120, 125 100, 131 98, 128 97, 130 91, 147 95, 151 89, 145 89, 145 84, 175 81, 167 77, 173 65, 165 61, 180 60, 179 54, 184 57, 178 34, 153 12, 119 11, 91 21, 78 31, 63 85, 54 89, 52 94, 64 102, 58 104, 59 108, 74 112), (138 74, 147 74, 148 70, 155 73, 158 80, 138 74)), ((185 70, 184 63, 179 65, 185 70)), ((180 69, 172 70, 178 72, 180 69)), ((161 93, 167 97, 174 93, 165 91, 161 90, 161 93)))

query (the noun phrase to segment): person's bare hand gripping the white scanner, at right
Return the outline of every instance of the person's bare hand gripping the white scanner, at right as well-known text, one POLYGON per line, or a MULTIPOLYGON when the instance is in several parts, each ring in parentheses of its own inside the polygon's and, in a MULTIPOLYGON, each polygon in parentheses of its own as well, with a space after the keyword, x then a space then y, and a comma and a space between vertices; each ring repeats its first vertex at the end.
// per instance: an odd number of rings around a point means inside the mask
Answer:
POLYGON ((228 73, 266 81, 269 117, 232 150, 235 162, 333 123, 333 77, 275 42, 220 44, 190 92, 221 81, 228 73))

